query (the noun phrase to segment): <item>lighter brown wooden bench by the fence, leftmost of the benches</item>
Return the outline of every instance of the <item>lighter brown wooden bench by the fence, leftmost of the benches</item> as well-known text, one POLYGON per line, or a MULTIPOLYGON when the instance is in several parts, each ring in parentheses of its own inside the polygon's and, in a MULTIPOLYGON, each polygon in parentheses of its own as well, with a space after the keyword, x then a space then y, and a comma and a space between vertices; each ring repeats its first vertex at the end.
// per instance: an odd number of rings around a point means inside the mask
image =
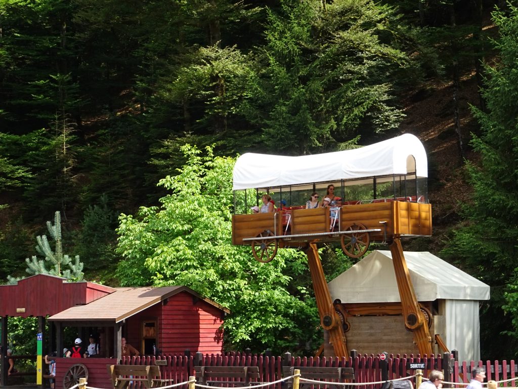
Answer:
POLYGON ((141 382, 146 388, 171 383, 170 380, 161 378, 160 367, 155 365, 107 365, 106 367, 114 389, 124 389, 130 382, 141 382))

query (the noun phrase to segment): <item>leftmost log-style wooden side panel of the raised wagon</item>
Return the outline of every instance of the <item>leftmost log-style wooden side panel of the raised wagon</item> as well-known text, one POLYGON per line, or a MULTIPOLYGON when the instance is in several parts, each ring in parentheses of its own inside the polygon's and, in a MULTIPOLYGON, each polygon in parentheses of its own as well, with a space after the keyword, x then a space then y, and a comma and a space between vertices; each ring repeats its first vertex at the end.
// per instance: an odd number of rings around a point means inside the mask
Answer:
POLYGON ((281 213, 269 212, 232 216, 232 244, 251 244, 251 242, 243 242, 243 238, 255 238, 266 230, 276 235, 282 235, 281 213))

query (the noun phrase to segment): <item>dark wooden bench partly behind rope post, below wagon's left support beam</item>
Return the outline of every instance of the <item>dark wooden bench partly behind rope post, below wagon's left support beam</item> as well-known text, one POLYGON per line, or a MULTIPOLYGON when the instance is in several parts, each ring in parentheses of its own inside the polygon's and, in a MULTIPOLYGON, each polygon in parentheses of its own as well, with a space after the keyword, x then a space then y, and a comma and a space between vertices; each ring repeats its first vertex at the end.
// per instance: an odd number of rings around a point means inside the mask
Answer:
MULTIPOLYGON (((354 380, 354 370, 352 367, 309 367, 309 366, 284 366, 282 368, 283 377, 293 376, 295 370, 300 370, 300 378, 308 380, 322 381, 322 385, 313 382, 300 381, 299 387, 301 389, 308 387, 333 387, 336 389, 344 389, 347 386, 333 385, 333 382, 346 382, 346 380, 354 380)), ((285 381, 286 389, 292 389, 293 380, 285 381)))

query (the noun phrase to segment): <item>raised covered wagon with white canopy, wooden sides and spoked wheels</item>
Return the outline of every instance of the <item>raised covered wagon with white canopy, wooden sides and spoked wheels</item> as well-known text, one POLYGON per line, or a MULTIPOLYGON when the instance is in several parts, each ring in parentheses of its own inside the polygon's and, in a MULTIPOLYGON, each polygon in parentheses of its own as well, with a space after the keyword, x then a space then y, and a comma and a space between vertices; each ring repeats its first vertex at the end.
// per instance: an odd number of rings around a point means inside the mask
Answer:
POLYGON ((431 235, 426 177, 424 148, 409 134, 322 155, 243 155, 234 169, 234 189, 244 194, 235 196, 233 244, 252 245, 258 260, 261 248, 275 246, 266 255, 271 260, 277 247, 339 241, 347 255, 359 257, 372 241, 431 235), (336 217, 329 208, 303 205, 309 193, 322 192, 328 184, 341 190, 336 217), (250 214, 254 199, 247 187, 255 190, 256 203, 266 193, 282 202, 280 208, 250 214))

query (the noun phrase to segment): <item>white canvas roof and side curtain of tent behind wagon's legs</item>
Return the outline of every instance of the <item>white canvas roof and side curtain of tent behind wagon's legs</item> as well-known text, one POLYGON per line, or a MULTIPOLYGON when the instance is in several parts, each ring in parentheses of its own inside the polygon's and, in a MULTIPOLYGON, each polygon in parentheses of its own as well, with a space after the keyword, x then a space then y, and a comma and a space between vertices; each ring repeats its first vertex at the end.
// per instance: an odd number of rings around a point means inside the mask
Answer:
MULTIPOLYGON (((459 360, 479 360, 479 301, 490 298, 490 287, 429 252, 404 256, 418 301, 441 300, 430 331, 458 350, 459 360)), ((373 251, 328 286, 342 303, 400 301, 390 251, 373 251)))

